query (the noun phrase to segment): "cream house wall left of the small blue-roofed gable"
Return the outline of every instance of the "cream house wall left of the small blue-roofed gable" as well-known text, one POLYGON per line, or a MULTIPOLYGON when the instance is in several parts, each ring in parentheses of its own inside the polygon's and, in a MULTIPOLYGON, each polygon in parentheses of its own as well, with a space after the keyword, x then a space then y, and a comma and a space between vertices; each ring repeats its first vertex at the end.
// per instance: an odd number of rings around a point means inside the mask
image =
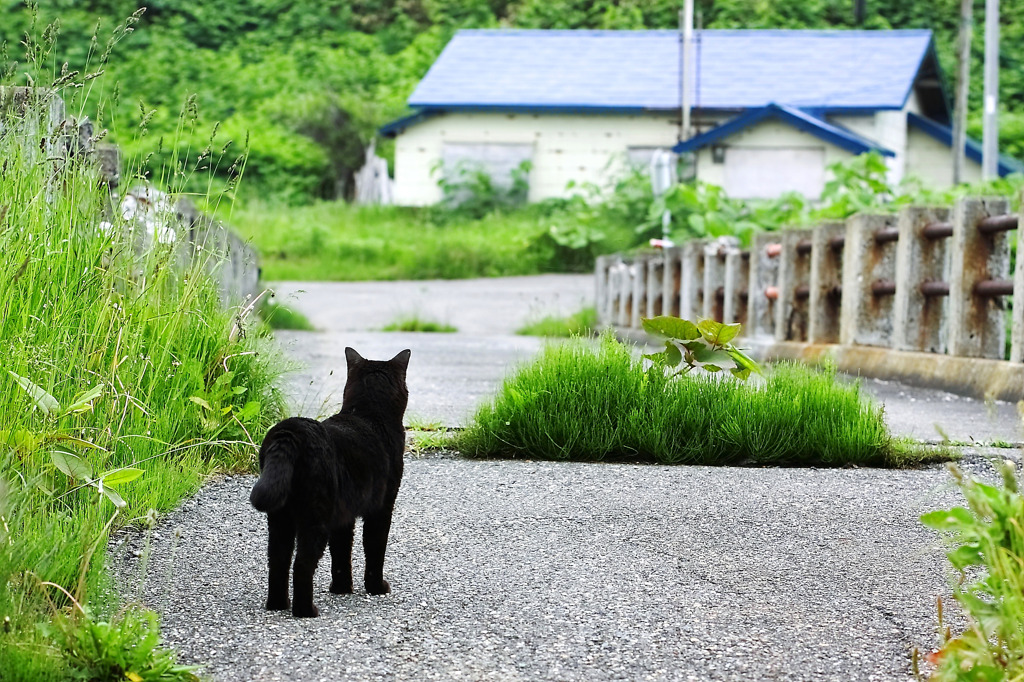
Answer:
POLYGON ((670 115, 445 114, 395 140, 395 202, 440 201, 432 169, 445 142, 532 145, 529 201, 539 201, 570 195, 569 181, 603 186, 623 171, 630 147, 671 147, 677 134, 670 115))

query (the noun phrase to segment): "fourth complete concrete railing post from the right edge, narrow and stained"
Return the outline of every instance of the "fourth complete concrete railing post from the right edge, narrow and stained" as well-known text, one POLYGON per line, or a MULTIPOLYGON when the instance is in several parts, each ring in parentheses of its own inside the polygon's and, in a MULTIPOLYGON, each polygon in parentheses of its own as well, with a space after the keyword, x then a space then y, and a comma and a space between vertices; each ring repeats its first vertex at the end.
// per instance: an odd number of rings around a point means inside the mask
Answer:
POLYGON ((822 223, 811 230, 811 291, 807 300, 807 340, 811 343, 839 343, 845 240, 843 222, 822 223))

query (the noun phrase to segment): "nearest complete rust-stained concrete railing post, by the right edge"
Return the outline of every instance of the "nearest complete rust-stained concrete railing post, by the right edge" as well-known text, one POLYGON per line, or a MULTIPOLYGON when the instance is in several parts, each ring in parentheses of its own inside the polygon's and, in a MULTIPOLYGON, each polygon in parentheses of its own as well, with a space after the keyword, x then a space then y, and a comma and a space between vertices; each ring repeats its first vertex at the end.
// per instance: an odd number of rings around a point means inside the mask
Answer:
POLYGON ((1002 359, 1006 352, 1004 301, 982 295, 979 284, 1007 280, 1010 238, 982 233, 978 222, 1009 209, 1006 199, 962 199, 953 209, 949 271, 949 354, 1002 359))

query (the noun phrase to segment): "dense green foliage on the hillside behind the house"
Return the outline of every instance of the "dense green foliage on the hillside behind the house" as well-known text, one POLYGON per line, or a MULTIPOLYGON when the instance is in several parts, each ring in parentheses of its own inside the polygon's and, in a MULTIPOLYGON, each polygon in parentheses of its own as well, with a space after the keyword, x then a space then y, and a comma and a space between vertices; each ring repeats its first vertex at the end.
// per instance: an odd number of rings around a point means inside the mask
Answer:
MULTIPOLYGON (((36 12, 23 0, 0 0, 0 41, 16 60, 7 80, 70 69, 100 68, 114 76, 97 89, 118 96, 99 111, 85 108, 120 144, 158 168, 174 152, 200 151, 205 134, 175 135, 177 113, 191 95, 203 126, 220 129, 210 165, 226 182, 234 155, 248 146, 243 186, 290 202, 351 191, 351 174, 381 124, 406 112, 406 99, 462 27, 642 29, 677 26, 678 0, 357 0, 282 3, 274 0, 141 2, 134 34, 104 53, 110 31, 132 15, 136 0, 44 0, 36 12), (53 50, 28 41, 59 17, 53 50), (98 42, 92 36, 100 26, 98 42), (35 29, 33 29, 35 25, 35 29), (90 47, 90 45, 92 45, 90 47), (26 58, 26 51, 32 58, 26 58), (114 82, 119 83, 115 88, 114 82), (148 119, 148 135, 134 131, 148 119), (174 146, 181 147, 172 150, 174 146), (233 145, 221 150, 227 140, 233 145), (163 143, 161 143, 163 140, 163 143), (248 144, 246 144, 248 142, 248 144)), ((707 28, 856 28, 851 0, 698 0, 707 28)), ((980 134, 981 25, 975 0, 970 133, 980 134)), ((862 26, 935 31, 948 91, 956 74, 957 0, 867 0, 862 26)), ((1002 0, 1000 137, 1002 148, 1024 157, 1024 0, 1002 0)), ((0 79, 3 80, 3 79, 0 79)), ((388 144, 382 153, 388 156, 388 144)))

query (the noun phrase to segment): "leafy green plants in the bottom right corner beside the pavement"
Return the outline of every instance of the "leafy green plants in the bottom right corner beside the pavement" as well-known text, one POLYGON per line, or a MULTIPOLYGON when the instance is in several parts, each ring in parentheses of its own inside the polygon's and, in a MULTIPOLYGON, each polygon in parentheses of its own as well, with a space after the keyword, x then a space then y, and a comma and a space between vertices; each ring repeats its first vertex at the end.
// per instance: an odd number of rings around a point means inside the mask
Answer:
POLYGON ((1017 465, 994 464, 1000 485, 950 466, 968 506, 922 517, 950 537, 946 556, 959 576, 953 596, 967 616, 967 627, 954 636, 939 601, 940 648, 929 655, 934 680, 1024 677, 1024 497, 1017 465))

